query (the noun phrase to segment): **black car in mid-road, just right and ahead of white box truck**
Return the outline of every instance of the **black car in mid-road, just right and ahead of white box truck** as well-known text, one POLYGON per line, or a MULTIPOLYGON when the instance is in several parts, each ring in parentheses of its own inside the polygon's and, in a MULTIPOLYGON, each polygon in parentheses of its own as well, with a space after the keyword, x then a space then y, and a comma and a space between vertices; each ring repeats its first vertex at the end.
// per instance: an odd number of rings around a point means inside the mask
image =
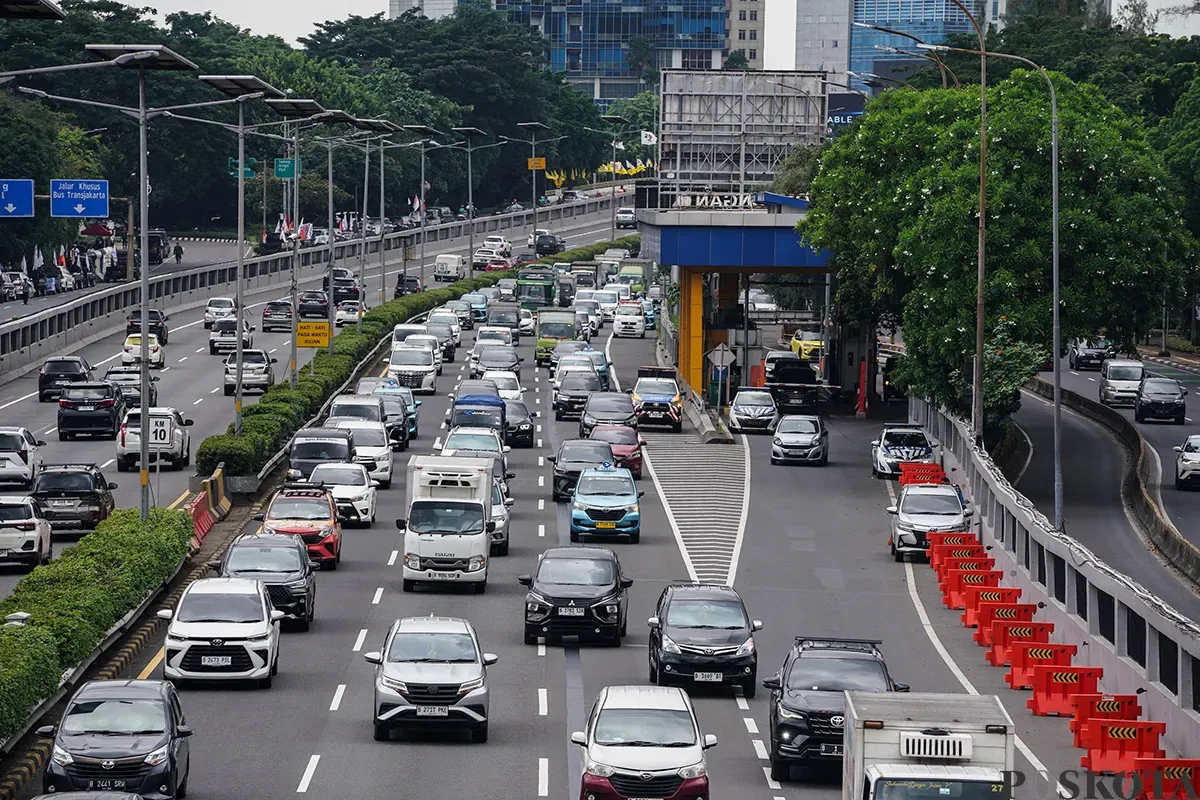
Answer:
POLYGON ((617 554, 605 547, 552 547, 538 572, 517 581, 526 595, 526 644, 566 636, 599 639, 613 646, 625 636, 628 589, 634 585, 617 554))

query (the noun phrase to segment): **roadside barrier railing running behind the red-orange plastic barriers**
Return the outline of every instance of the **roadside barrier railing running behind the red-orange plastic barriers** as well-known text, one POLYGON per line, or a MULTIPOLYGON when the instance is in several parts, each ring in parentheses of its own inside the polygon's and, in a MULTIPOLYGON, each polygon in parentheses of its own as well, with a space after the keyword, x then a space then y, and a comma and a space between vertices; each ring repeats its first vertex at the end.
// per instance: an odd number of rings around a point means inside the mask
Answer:
POLYGON ((962 420, 917 398, 908 417, 958 459, 979 512, 980 542, 1022 590, 1022 602, 1044 604, 1039 615, 1055 624, 1054 638, 1079 646, 1078 666, 1103 667, 1103 691, 1140 694, 1142 718, 1166 722, 1175 750, 1200 753, 1200 625, 1056 531, 962 420))

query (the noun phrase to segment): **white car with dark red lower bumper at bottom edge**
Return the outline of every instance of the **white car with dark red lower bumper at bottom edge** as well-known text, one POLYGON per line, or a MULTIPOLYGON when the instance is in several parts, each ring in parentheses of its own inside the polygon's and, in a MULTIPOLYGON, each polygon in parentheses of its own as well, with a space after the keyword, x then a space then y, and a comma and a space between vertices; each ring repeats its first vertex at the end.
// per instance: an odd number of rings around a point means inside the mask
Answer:
POLYGON ((708 796, 716 736, 700 732, 678 686, 606 686, 571 741, 583 747, 581 796, 708 796))

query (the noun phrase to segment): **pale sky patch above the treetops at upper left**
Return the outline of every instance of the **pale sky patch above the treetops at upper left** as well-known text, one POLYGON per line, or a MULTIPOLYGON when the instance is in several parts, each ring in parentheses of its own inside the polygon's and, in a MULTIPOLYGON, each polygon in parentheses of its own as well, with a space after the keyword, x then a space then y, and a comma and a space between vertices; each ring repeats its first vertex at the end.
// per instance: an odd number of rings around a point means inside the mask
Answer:
POLYGON ((282 36, 293 44, 301 36, 312 32, 317 23, 328 19, 346 19, 350 14, 370 17, 380 11, 388 13, 388 0, 137 0, 131 6, 150 6, 158 10, 162 19, 176 11, 212 16, 230 22, 239 28, 248 28, 260 36, 282 36))

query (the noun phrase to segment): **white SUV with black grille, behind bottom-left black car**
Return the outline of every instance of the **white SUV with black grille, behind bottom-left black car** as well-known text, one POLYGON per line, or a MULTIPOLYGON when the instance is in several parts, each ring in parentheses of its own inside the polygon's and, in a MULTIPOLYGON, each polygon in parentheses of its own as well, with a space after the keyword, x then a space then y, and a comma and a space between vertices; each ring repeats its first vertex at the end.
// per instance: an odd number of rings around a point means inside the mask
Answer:
POLYGON ((184 590, 167 626, 163 678, 252 680, 263 688, 280 670, 280 620, 266 587, 245 578, 200 578, 184 590))

